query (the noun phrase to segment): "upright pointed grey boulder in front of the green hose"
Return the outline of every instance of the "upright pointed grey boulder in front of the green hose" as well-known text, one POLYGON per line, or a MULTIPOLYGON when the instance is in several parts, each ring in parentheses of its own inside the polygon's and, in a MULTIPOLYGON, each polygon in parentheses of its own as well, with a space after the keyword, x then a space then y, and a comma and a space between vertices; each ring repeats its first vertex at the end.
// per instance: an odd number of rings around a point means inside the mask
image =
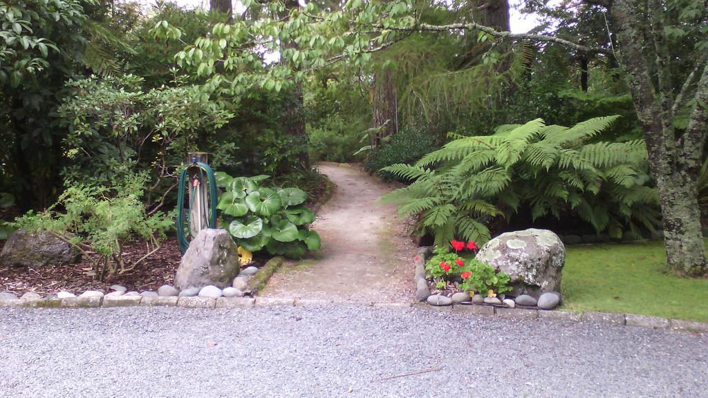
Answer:
POLYGON ((202 229, 190 242, 177 268, 175 288, 206 285, 226 288, 239 274, 239 253, 225 229, 202 229))

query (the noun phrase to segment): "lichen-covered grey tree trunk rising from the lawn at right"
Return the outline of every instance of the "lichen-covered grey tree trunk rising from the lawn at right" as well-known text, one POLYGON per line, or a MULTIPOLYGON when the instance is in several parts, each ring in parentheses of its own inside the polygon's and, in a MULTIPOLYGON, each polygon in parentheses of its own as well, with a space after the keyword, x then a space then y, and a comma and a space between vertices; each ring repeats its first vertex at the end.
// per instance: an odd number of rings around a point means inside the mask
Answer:
POLYGON ((615 0, 610 5, 617 26, 619 63, 644 130, 661 200, 668 265, 681 275, 702 276, 708 267, 696 181, 707 135, 708 67, 706 55, 700 55, 694 73, 674 94, 663 10, 659 0, 649 1, 646 8, 632 0, 615 0), (696 101, 689 123, 685 131, 677 131, 675 110, 696 78, 696 101))

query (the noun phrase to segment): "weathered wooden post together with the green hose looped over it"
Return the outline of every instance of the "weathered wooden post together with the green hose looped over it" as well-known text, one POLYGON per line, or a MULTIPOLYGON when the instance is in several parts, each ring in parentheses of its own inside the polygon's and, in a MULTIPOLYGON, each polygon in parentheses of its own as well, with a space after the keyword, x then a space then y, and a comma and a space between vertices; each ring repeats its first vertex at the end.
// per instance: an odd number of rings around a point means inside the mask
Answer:
POLYGON ((189 247, 188 236, 206 228, 217 227, 217 181, 212 168, 205 163, 192 160, 179 176, 177 193, 177 243, 184 254, 189 247), (207 183, 208 191, 203 187, 207 183), (189 207, 184 207, 186 186, 189 186, 189 207), (186 211, 186 215, 185 215, 186 211))

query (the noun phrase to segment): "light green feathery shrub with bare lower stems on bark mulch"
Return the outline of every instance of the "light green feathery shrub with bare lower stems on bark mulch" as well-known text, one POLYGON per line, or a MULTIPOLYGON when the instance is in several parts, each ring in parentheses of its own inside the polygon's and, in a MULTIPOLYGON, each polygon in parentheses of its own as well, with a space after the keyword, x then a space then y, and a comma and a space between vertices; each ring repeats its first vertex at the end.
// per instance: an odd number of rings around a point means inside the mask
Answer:
POLYGON ((130 175, 112 188, 69 187, 57 203, 40 213, 28 212, 16 227, 28 232, 42 229, 76 247, 93 263, 98 280, 132 271, 160 249, 173 226, 172 217, 164 213, 146 214, 141 202, 146 181, 144 176, 130 175), (57 210, 61 208, 63 212, 57 210), (135 237, 147 242, 148 252, 127 261, 122 247, 135 237))

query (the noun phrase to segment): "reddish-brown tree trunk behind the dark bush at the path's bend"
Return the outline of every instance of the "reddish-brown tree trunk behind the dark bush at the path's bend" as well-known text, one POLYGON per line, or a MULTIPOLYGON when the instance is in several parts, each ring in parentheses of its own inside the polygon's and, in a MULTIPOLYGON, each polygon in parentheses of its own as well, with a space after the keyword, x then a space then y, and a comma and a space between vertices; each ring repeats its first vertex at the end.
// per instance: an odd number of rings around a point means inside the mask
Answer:
POLYGON ((383 68, 374 75, 372 115, 374 127, 382 127, 375 137, 379 145, 384 137, 398 131, 398 96, 394 71, 383 68))

